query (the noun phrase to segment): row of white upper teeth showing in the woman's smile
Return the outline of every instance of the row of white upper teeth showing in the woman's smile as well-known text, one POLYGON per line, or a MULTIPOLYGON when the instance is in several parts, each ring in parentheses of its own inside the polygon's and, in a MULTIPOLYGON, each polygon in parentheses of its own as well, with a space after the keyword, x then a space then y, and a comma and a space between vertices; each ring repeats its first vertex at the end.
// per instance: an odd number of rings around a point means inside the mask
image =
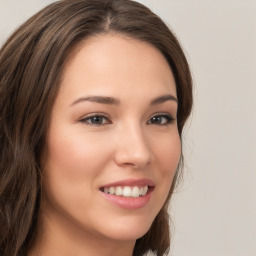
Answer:
POLYGON ((144 187, 108 187, 103 189, 104 193, 116 195, 116 196, 124 196, 124 197, 139 197, 139 196, 145 196, 148 192, 148 186, 144 187))

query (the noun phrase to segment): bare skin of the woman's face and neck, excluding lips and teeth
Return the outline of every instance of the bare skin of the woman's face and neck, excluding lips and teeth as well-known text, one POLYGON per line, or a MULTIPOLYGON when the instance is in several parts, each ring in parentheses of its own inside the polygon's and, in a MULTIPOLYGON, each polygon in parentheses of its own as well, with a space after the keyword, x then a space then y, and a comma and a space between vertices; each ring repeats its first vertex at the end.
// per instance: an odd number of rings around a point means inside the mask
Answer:
POLYGON ((177 102, 151 104, 163 95, 176 97, 174 77, 148 43, 99 35, 71 54, 52 109, 40 228, 29 255, 132 255, 165 202, 180 159, 177 102), (88 96, 118 104, 81 100, 88 96), (95 114, 103 116, 99 124, 89 119, 95 114), (119 207, 99 190, 131 178, 155 183, 142 208, 119 207))

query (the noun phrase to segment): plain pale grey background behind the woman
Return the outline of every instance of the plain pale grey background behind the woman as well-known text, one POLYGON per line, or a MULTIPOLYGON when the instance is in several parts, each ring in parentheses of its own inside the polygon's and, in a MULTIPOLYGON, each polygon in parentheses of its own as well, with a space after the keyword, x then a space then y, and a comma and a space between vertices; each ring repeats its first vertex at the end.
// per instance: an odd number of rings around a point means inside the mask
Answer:
MULTIPOLYGON (((50 0, 0 0, 0 44, 50 0)), ((194 77, 172 256, 256 256, 256 1, 141 0, 180 39, 194 77)))

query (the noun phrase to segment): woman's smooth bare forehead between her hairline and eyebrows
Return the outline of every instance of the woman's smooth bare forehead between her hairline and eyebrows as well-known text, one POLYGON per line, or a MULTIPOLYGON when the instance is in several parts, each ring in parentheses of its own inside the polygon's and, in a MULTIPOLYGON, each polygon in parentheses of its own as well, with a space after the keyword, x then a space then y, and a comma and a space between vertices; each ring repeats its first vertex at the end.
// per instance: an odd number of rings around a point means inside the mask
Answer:
POLYGON ((149 90, 176 95, 168 62, 153 45, 119 34, 97 35, 76 47, 66 63, 60 88, 70 96, 149 90))

